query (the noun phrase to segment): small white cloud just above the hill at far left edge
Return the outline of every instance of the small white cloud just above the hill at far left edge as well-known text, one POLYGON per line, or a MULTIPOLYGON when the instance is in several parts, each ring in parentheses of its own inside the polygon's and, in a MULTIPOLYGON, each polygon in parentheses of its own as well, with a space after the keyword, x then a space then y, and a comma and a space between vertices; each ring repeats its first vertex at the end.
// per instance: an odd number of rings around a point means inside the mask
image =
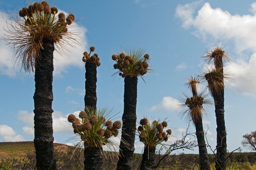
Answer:
POLYGON ((23 136, 18 135, 12 127, 9 127, 8 125, 0 125, 0 136, 5 140, 5 142, 25 141, 23 136))

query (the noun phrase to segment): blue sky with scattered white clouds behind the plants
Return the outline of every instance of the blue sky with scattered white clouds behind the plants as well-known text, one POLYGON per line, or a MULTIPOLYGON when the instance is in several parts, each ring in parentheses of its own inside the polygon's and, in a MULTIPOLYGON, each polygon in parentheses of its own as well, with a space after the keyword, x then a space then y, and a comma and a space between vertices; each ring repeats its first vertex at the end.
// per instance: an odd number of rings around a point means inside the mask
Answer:
MULTIPOLYGON (((169 120, 173 137, 178 139, 187 127, 179 115, 178 99, 185 78, 204 69, 201 57, 216 45, 224 47, 230 57, 228 71, 235 79, 225 90, 225 122, 228 149, 241 146, 242 135, 255 130, 256 96, 256 3, 253 0, 126 0, 76 1, 52 0, 65 12, 73 12, 81 31, 83 45, 69 48, 65 56, 55 53, 52 108, 54 137, 64 143, 72 137, 66 115, 84 107, 85 68, 83 52, 96 47, 101 66, 97 68, 97 105, 114 107, 123 112, 123 78, 113 78, 111 55, 123 47, 142 47, 151 57, 153 73, 138 83, 137 117, 162 117, 169 120)), ((18 11, 26 2, 0 1, 0 12, 18 11)), ((0 19, 2 36, 5 25, 0 19)), ((0 142, 33 140, 33 74, 14 65, 12 49, 0 40, 0 142)), ((216 146, 214 107, 204 117, 207 137, 216 146)), ((192 126, 191 131, 195 128, 192 126)), ((76 143, 69 141, 68 143, 76 143)), ((136 143, 136 152, 142 144, 136 143)), ((246 151, 244 149, 244 151, 246 151)), ((186 153, 197 153, 186 151, 186 153)), ((210 151, 209 151, 210 152, 210 151)))

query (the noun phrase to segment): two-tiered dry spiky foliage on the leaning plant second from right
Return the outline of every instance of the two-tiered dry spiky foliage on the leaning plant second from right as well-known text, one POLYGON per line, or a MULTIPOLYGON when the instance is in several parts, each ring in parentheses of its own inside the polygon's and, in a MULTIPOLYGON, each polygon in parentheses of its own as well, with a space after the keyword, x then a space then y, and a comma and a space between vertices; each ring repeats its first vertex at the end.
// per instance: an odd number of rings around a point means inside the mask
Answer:
POLYGON ((204 92, 197 94, 197 84, 199 84, 198 77, 197 78, 188 78, 186 83, 191 91, 192 97, 187 94, 184 94, 184 98, 180 102, 180 106, 182 107, 181 115, 185 117, 187 120, 192 119, 195 123, 197 120, 200 120, 205 112, 203 104, 209 105, 211 104, 211 100, 206 99, 207 95, 204 92))

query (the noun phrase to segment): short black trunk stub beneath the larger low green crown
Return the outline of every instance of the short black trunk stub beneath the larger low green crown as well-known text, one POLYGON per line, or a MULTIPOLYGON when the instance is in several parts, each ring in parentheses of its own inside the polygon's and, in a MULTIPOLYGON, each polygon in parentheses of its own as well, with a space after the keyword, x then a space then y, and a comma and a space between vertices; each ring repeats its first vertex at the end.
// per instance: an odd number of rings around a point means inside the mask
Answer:
POLYGON ((102 148, 85 148, 86 161, 84 161, 85 170, 102 170, 102 148))

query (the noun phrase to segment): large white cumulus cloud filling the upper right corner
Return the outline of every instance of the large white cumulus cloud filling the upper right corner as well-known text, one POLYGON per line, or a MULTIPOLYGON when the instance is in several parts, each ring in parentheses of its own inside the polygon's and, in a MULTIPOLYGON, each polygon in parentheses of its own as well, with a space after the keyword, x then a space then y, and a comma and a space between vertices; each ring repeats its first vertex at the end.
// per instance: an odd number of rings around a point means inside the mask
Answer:
POLYGON ((233 62, 228 70, 234 73, 236 79, 233 86, 245 95, 256 96, 256 3, 251 4, 248 11, 251 14, 230 14, 220 8, 212 8, 201 1, 178 5, 176 16, 182 21, 182 27, 192 28, 192 33, 207 40, 209 43, 221 43, 235 46, 233 62), (199 7, 199 10, 196 9, 199 7), (244 52, 253 52, 250 59, 243 56, 244 52))

